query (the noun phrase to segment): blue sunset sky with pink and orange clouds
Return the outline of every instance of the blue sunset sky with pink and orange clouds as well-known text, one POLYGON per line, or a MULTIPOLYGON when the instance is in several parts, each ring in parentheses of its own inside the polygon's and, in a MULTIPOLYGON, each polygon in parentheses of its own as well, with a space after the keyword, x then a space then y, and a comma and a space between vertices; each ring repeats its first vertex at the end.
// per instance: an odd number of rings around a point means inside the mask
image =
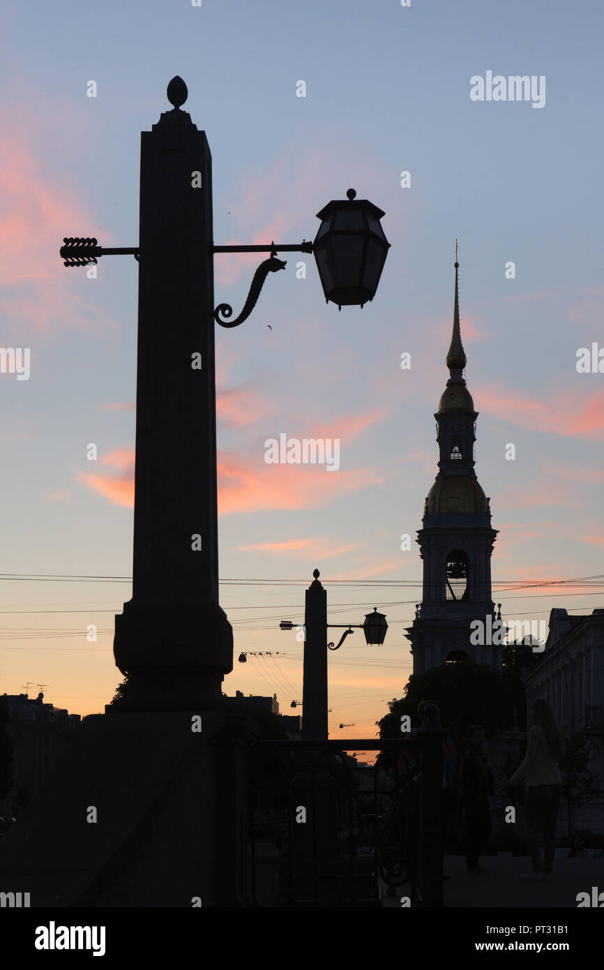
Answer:
MULTIPOLYGON (((291 253, 251 317, 216 328, 221 604, 236 658, 283 655, 236 660, 224 690, 276 693, 292 713, 302 643, 278 623, 302 623, 317 567, 333 623, 376 605, 390 625, 383 647, 358 630, 330 656, 331 735, 343 722, 372 736, 402 695, 422 564, 400 535, 415 538, 437 470, 456 237, 477 473, 499 530, 493 598, 534 620, 604 605, 598 585, 525 588, 604 576, 604 373, 576 369, 579 348, 604 348, 603 19, 597 0, 3 6, 0 344, 30 348, 31 372, 0 373, 1 692, 47 685, 84 715, 121 679, 138 268, 106 257, 88 279, 58 249, 138 243, 140 132, 170 108, 175 75, 212 152, 214 242, 313 239, 316 212, 352 186, 386 211, 392 243, 363 309, 326 306, 314 258, 291 253), (487 71, 545 76, 545 107, 472 101, 487 71), (339 438, 340 468, 266 464, 281 433, 339 438)), ((263 258, 217 256, 215 302, 238 312, 263 258)))

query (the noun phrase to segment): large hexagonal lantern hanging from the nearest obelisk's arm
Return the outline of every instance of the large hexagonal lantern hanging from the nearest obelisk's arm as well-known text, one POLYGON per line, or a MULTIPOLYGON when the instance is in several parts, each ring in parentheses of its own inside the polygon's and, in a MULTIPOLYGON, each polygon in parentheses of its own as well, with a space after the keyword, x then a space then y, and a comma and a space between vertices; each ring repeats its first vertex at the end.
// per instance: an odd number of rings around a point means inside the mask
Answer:
POLYGON ((380 219, 386 213, 366 199, 332 201, 317 212, 321 225, 312 244, 326 303, 361 306, 375 296, 390 248, 380 219))

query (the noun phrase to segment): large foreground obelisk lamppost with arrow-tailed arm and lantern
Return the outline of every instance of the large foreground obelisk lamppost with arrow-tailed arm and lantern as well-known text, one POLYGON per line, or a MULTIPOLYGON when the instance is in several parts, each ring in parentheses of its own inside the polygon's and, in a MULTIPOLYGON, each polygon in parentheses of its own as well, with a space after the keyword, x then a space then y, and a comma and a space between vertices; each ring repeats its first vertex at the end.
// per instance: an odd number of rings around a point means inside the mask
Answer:
POLYGON ((142 135, 139 245, 65 237, 59 250, 66 267, 112 254, 139 265, 133 589, 113 642, 129 678, 121 710, 221 707, 233 669, 233 630, 218 601, 214 323, 247 319, 269 273, 285 268, 278 252, 314 252, 326 299, 363 306, 389 247, 384 213, 354 190, 320 210, 314 243, 214 245, 211 154, 181 111, 187 93, 173 78, 173 110, 142 135), (213 256, 226 252, 270 253, 235 318, 228 304, 214 307, 213 256))

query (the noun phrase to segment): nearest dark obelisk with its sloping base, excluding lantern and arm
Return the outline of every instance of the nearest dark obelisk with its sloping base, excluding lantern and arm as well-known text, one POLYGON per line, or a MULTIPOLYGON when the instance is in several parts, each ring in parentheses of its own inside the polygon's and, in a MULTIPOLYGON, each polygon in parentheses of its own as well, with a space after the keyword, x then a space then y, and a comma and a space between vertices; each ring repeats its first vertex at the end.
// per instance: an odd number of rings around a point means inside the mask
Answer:
POLYGON ((141 150, 132 599, 115 617, 123 699, 83 720, 2 840, 32 907, 246 905, 245 723, 223 708, 211 157, 175 105, 141 150))

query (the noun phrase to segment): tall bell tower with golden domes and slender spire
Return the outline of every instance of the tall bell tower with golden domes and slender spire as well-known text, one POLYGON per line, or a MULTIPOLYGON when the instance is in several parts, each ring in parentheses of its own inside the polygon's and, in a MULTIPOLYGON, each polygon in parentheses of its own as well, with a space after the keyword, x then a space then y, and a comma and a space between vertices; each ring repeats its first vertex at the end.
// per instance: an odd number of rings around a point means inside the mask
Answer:
POLYGON ((459 265, 456 246, 453 336, 446 358, 450 377, 434 415, 438 474, 416 540, 424 563, 422 602, 406 630, 413 673, 463 656, 501 670, 501 646, 490 642, 497 640, 491 591, 497 533, 491 527, 490 500, 474 470, 478 412, 462 376, 466 358, 460 331, 459 265), (483 636, 470 627, 476 620, 484 625, 483 636))

